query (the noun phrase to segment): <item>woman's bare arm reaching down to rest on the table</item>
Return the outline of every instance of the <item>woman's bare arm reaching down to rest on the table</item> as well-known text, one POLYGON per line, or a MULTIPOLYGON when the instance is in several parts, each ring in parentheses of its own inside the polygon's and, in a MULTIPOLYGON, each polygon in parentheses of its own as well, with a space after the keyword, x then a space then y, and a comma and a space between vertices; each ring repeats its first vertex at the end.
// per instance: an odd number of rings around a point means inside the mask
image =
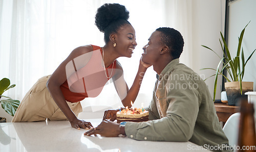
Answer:
POLYGON ((72 59, 92 51, 91 46, 83 46, 78 47, 74 49, 70 55, 65 59, 59 67, 53 72, 52 76, 49 78, 47 82, 47 88, 53 98, 53 100, 56 102, 60 110, 65 114, 65 116, 69 119, 71 126, 74 128, 90 128, 93 127, 90 122, 86 122, 83 120, 79 120, 75 114, 72 112, 70 107, 68 106, 65 97, 63 96, 60 85, 63 84, 67 80, 66 75, 66 66, 67 63, 70 62, 72 59))

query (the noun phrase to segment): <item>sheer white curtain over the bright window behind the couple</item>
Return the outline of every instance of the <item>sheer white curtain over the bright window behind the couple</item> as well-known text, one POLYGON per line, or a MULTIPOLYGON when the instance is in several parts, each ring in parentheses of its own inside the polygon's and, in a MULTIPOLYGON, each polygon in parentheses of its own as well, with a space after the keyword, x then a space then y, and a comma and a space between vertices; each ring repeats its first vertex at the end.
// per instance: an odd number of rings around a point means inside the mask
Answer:
MULTIPOLYGON (((118 58, 129 88, 138 70, 142 47, 159 27, 172 27, 181 32, 185 53, 180 61, 192 66, 191 1, 0 0, 0 78, 7 77, 16 84, 8 95, 22 100, 37 79, 52 74, 74 48, 89 44, 103 46, 103 34, 94 25, 94 17, 104 3, 124 5, 130 11, 129 21, 136 31, 138 46, 133 56, 118 58)), ((155 80, 156 73, 151 67, 145 74, 135 106, 141 102, 148 105, 155 80)), ((81 103, 122 106, 112 83, 98 97, 81 103)))

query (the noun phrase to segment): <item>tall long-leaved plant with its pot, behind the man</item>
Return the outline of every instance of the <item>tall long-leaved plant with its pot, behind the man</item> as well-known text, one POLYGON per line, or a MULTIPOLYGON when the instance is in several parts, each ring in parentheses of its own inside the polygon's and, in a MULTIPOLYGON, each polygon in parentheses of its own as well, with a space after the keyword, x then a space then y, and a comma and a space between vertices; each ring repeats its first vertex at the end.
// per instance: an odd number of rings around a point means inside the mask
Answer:
MULTIPOLYGON (((249 23, 250 23, 250 21, 249 21, 249 23)), ((245 26, 245 28, 247 27, 247 25, 245 26)), ((227 44, 226 44, 226 41, 225 41, 221 32, 220 33, 221 33, 222 41, 220 39, 219 40, 220 40, 221 48, 222 48, 222 51, 223 51, 223 54, 224 54, 223 58, 221 58, 215 51, 213 51, 210 48, 202 45, 202 47, 207 48, 210 51, 214 52, 220 58, 220 62, 217 66, 217 69, 212 69, 212 68, 201 69, 201 70, 210 69, 210 70, 215 70, 216 71, 216 74, 212 75, 212 76, 215 76, 214 101, 215 101, 215 96, 216 96, 218 75, 222 75, 228 81, 228 82, 225 82, 225 90, 226 90, 226 93, 227 93, 227 101, 228 101, 229 105, 236 105, 237 102, 238 102, 238 99, 243 97, 245 92, 253 91, 253 82, 244 82, 244 81, 242 81, 243 77, 244 77, 245 66, 246 66, 247 62, 249 61, 249 59, 251 58, 251 56, 253 55, 253 53, 256 50, 255 49, 254 51, 252 51, 252 53, 247 58, 247 60, 245 60, 243 47, 242 47, 242 51, 241 51, 242 40, 243 40, 245 28, 242 30, 242 32, 240 34, 240 37, 239 37, 239 40, 238 40, 237 56, 235 56, 234 58, 231 58, 229 49, 228 49, 227 44), (224 48, 223 48, 222 44, 224 45, 226 53, 224 51, 224 48), (223 67, 220 70, 221 64, 223 64, 223 67), (227 71, 227 75, 229 77, 223 75, 222 72, 224 70, 227 71)), ((212 77, 212 76, 210 76, 210 77, 212 77)), ((206 78, 206 79, 208 79, 208 78, 206 78)))

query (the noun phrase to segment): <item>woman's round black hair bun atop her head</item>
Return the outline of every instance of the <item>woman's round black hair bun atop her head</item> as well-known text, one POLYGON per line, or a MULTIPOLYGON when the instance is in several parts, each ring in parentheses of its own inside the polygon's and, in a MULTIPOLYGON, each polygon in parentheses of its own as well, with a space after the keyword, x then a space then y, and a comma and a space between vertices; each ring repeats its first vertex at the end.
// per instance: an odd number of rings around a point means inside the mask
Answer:
POLYGON ((95 16, 95 25, 101 32, 104 32, 104 29, 108 25, 118 19, 129 18, 129 11, 126 10, 125 6, 120 4, 104 4, 98 8, 95 16))

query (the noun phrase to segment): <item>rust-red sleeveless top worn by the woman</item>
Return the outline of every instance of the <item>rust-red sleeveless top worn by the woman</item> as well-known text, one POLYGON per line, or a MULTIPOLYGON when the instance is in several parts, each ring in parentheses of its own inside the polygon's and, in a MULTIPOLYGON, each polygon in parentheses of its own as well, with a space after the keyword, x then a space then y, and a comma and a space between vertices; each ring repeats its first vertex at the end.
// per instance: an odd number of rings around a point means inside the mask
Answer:
POLYGON ((105 83, 115 74, 116 60, 104 70, 101 48, 92 47, 91 53, 74 58, 66 66, 67 80, 60 85, 60 90, 67 101, 79 102, 87 97, 97 97, 105 83), (86 59, 89 61, 85 64, 86 59), (85 66, 79 68, 81 64, 85 66))

